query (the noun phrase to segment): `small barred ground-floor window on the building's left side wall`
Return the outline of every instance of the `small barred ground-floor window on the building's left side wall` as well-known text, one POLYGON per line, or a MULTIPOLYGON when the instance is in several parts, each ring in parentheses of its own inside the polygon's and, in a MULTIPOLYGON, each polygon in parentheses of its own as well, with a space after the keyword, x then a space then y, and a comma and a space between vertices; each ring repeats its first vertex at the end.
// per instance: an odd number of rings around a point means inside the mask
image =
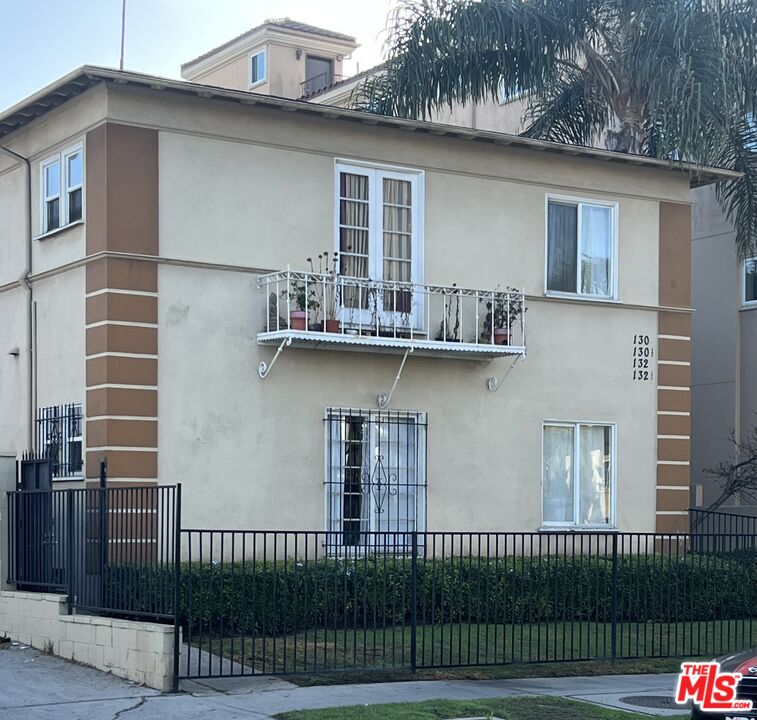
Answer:
POLYGON ((80 404, 51 405, 37 410, 37 450, 50 458, 53 477, 82 474, 80 404))

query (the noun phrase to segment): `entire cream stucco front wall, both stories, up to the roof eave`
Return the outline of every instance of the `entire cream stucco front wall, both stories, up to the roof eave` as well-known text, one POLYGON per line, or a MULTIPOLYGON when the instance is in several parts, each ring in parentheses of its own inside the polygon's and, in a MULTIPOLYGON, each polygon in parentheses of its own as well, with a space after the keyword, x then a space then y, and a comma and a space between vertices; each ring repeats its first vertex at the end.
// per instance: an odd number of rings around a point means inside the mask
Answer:
POLYGON ((391 386, 399 358, 373 353, 291 349, 256 373, 273 351, 255 271, 333 247, 334 161, 352 158, 425 171, 426 282, 531 296, 499 392, 507 360, 408 360, 393 407, 428 414, 428 527, 539 527, 551 419, 617 424, 618 525, 654 530, 657 390, 634 383, 632 344, 657 334, 658 202, 687 202, 683 177, 131 90, 109 107, 160 129, 161 256, 212 265, 159 267, 158 474, 184 483, 188 526, 322 528, 324 410, 391 386), (544 297, 547 193, 618 202, 621 304, 544 297))

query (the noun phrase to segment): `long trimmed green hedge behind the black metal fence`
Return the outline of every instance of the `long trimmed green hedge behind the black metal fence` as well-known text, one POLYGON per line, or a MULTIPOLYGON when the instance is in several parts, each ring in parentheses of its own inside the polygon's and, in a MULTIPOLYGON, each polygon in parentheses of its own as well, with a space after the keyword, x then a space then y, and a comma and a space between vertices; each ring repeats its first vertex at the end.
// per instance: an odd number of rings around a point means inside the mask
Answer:
MULTIPOLYGON (((610 560, 546 557, 418 561, 419 623, 553 622, 612 618, 610 560)), ((757 615, 757 562, 712 556, 621 557, 619 622, 757 615)), ((111 566, 106 601, 134 612, 171 612, 174 576, 160 567, 111 566)), ((326 560, 181 566, 182 624, 229 633, 409 623, 411 561, 326 560)))

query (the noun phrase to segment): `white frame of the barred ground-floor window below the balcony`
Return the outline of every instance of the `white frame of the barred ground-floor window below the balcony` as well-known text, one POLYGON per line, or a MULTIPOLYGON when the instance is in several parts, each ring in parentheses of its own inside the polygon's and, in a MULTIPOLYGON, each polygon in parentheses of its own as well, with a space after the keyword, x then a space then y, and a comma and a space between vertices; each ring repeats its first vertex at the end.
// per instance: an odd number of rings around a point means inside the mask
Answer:
MULTIPOLYGON (((338 531, 334 531, 333 528, 329 526, 329 520, 331 519, 330 516, 330 503, 332 501, 331 499, 331 488, 330 488, 330 480, 331 477, 331 470, 332 468, 329 465, 329 458, 330 458, 330 448, 329 448, 329 441, 330 441, 330 430, 328 427, 328 423, 330 421, 333 421, 334 417, 336 415, 339 415, 340 417, 348 417, 351 414, 354 414, 356 417, 366 417, 371 416, 374 414, 380 414, 380 415, 412 415, 415 417, 416 423, 416 433, 417 437, 420 439, 422 438, 422 444, 423 448, 422 451, 420 448, 416 448, 416 454, 417 454, 417 466, 415 468, 416 470, 416 488, 423 488, 423 492, 416 492, 417 495, 417 503, 416 503, 416 516, 415 516, 415 532, 417 533, 425 533, 426 532, 426 513, 427 513, 427 507, 428 507, 428 468, 427 468, 427 453, 428 453, 428 415, 425 412, 418 412, 415 410, 366 410, 366 409, 359 409, 359 408, 337 408, 337 407, 328 407, 325 410, 324 413, 324 420, 325 420, 325 426, 324 426, 324 434, 323 434, 323 477, 324 477, 324 493, 323 493, 323 526, 325 535, 327 538, 327 544, 328 547, 331 548, 331 553, 334 553, 334 549, 337 548, 336 554, 339 555, 355 555, 364 553, 366 550, 371 549, 370 544, 364 544, 364 545, 339 545, 337 543, 334 543, 330 540, 331 536, 334 534, 338 534, 338 531), (420 480, 423 480, 423 482, 420 482, 420 480)), ((371 432, 374 432, 373 428, 371 428, 371 432)), ((374 460, 373 458, 368 458, 369 467, 373 468, 374 460)), ((372 472, 372 471, 371 471, 372 472)), ((367 502, 373 502, 373 500, 369 497, 367 502)), ((370 527, 366 532, 376 532, 374 520, 375 517, 373 517, 374 513, 371 512, 372 506, 369 507, 369 520, 370 520, 370 527)), ((344 518, 342 518, 344 520, 344 518)), ((380 531, 379 531, 380 532, 380 531)), ((389 531, 392 532, 392 531, 389 531)), ((398 534, 403 534, 404 531, 396 531, 398 534)))

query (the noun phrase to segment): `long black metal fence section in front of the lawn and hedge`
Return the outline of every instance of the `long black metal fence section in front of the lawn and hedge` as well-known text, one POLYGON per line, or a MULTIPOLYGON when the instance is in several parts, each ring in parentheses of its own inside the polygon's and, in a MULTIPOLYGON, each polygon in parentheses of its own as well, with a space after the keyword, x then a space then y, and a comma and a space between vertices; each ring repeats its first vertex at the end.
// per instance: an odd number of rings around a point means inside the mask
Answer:
POLYGON ((182 530, 182 677, 715 656, 757 640, 737 536, 182 530), (398 537, 399 535, 400 537, 398 537))

